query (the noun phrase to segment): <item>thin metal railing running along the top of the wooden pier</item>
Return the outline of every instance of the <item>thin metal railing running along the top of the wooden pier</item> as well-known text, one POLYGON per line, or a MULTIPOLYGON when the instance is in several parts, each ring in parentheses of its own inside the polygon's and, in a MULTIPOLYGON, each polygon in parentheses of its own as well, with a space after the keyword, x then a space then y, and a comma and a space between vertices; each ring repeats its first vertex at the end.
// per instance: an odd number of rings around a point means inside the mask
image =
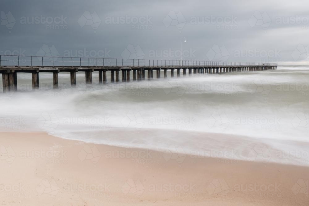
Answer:
POLYGON ((147 60, 121 58, 91 57, 42 57, 0 55, 0 66, 277 66, 267 62, 231 62, 231 61, 198 61, 198 60, 147 60))

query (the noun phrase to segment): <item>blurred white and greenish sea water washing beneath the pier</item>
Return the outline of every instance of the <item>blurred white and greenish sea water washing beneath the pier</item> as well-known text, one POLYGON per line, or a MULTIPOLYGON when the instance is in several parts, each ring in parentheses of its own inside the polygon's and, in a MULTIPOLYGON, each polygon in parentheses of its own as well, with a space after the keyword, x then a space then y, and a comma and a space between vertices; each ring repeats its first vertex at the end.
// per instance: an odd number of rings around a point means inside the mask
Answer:
POLYGON ((0 128, 125 147, 175 146, 183 150, 178 152, 202 156, 209 156, 205 150, 235 149, 238 155, 223 158, 253 155, 256 161, 309 165, 307 67, 168 79, 162 71, 161 79, 155 76, 154 71, 152 81, 99 84, 94 72, 93 84, 85 85, 80 72, 71 88, 69 73, 59 73, 54 90, 53 75, 40 73, 40 89, 33 92, 31 74, 18 73, 19 91, 0 95, 0 128), (208 133, 225 135, 212 139, 208 133), (283 160, 268 154, 272 151, 289 155, 283 160), (301 155, 295 160, 291 152, 301 155))

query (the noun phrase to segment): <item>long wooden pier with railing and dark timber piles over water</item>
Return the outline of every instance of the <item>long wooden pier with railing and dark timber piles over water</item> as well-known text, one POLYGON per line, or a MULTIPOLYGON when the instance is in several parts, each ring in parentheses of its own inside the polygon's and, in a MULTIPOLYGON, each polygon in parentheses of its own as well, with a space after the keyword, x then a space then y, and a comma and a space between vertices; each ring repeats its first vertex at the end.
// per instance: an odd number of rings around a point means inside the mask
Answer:
POLYGON ((262 62, 224 62, 224 61, 179 61, 179 60, 145 60, 145 59, 116 59, 116 58, 80 58, 80 57, 37 57, 37 56, 4 56, 0 55, 0 73, 2 74, 3 92, 17 90, 17 73, 32 74, 32 88, 39 89, 39 73, 53 73, 53 88, 58 88, 58 73, 70 72, 71 86, 76 85, 76 73, 85 72, 86 84, 92 83, 92 73, 98 71, 99 83, 107 82, 110 75, 111 82, 153 79, 155 70, 156 78, 161 78, 161 70, 164 70, 164 78, 167 71, 171 71, 171 77, 193 74, 225 74, 232 72, 252 72, 276 70, 277 63, 262 62), (174 71, 176 75, 174 76, 174 71), (192 74, 193 71, 193 74, 192 74), (121 75, 120 75, 121 73, 121 75), (121 77, 120 77, 121 76, 121 77))

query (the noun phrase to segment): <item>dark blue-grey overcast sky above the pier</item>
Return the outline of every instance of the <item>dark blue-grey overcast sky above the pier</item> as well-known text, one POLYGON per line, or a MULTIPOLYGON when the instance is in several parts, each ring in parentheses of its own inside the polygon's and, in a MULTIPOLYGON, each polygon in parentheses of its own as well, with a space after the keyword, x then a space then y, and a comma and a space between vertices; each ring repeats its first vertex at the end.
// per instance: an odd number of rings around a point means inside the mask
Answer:
POLYGON ((1 0, 0 5, 1 55, 15 50, 60 57, 308 61, 308 0, 1 0))

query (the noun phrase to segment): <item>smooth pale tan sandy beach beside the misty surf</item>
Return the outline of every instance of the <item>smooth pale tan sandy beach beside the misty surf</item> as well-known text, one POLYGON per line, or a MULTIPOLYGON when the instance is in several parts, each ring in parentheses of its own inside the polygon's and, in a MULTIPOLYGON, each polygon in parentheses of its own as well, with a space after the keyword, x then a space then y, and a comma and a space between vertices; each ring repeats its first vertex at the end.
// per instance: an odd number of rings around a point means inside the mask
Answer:
POLYGON ((0 133, 1 205, 308 205, 309 168, 0 133), (307 185, 306 185, 307 184, 307 185))

